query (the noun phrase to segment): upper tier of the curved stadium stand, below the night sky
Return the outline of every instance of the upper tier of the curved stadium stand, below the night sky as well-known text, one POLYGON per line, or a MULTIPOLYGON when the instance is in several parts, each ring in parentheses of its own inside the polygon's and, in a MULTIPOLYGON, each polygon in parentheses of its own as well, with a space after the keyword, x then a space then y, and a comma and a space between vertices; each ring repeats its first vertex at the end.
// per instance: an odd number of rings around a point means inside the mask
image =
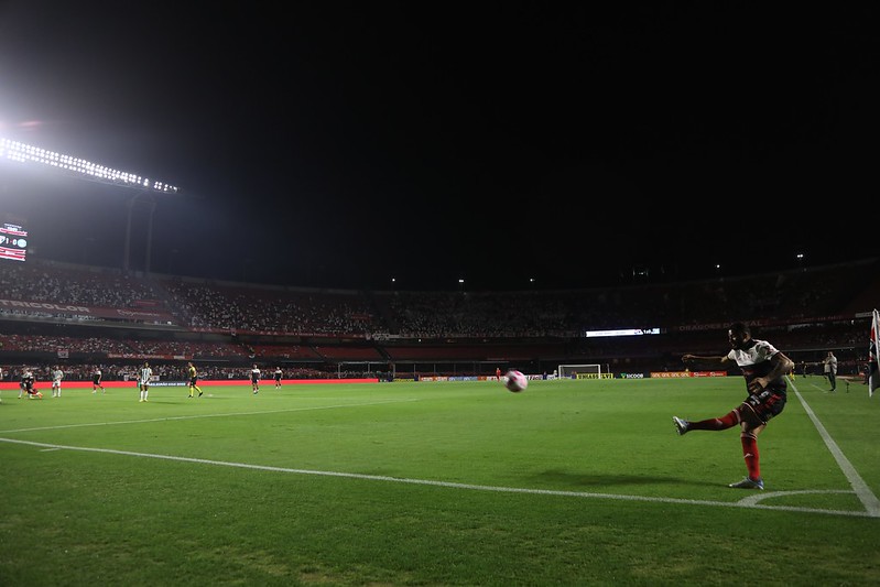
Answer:
POLYGON ((0 271, 0 320, 377 339, 577 338, 734 320, 855 317, 880 298, 878 260, 682 283, 565 291, 369 292, 261 286, 29 261, 0 271))

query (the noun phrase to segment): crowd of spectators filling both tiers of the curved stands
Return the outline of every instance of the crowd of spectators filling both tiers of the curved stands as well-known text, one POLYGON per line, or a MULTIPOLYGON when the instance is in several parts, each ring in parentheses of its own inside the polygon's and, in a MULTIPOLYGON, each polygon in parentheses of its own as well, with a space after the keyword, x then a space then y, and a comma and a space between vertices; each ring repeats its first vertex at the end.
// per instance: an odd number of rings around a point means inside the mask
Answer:
MULTIPOLYGON (((877 260, 866 260, 774 274, 622 287, 359 292, 124 275, 115 270, 55 263, 4 263, 0 272, 0 322, 72 319, 69 312, 53 313, 45 306, 32 308, 17 302, 118 308, 149 304, 175 316, 177 331, 226 336, 220 341, 191 340, 171 333, 131 335, 131 328, 124 336, 111 336, 109 328, 100 327, 94 328, 99 333, 96 336, 0 333, 0 361, 7 351, 69 351, 111 355, 117 359, 220 357, 233 365, 295 362, 305 370, 304 374, 315 366, 317 373, 326 373, 321 363, 343 361, 442 361, 466 357, 487 361, 519 358, 525 352, 547 361, 644 359, 656 363, 659 356, 674 362, 677 352, 695 350, 695 344, 717 348, 717 337, 704 340, 700 331, 756 319, 764 324, 764 331, 781 348, 804 352, 814 348, 860 348, 866 346, 863 323, 848 324, 843 318, 871 309, 854 307, 855 301, 880 298, 877 269, 877 260), (680 335, 652 338, 650 345, 631 338, 583 336, 585 330, 648 327, 680 335), (260 341, 256 343, 258 335, 260 341), (329 337, 330 344, 285 341, 292 335, 329 337), (349 337, 360 344, 338 345, 334 337, 349 337), (422 340, 437 344, 423 345, 422 340), (466 340, 471 344, 450 347, 438 343, 466 340)), ((119 320, 108 320, 108 326, 118 327, 119 320)), ((156 370, 162 369, 162 365, 156 365, 156 370)), ((222 378, 228 373, 219 369, 217 374, 222 378)))

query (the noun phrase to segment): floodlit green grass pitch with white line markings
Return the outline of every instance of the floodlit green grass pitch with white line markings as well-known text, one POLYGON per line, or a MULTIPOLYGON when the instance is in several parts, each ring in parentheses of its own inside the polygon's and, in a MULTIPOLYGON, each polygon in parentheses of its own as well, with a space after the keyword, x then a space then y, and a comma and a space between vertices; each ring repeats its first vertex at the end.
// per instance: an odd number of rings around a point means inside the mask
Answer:
POLYGON ((795 387, 763 493, 671 422, 740 378, 6 392, 0 584, 877 585, 880 404, 795 387))

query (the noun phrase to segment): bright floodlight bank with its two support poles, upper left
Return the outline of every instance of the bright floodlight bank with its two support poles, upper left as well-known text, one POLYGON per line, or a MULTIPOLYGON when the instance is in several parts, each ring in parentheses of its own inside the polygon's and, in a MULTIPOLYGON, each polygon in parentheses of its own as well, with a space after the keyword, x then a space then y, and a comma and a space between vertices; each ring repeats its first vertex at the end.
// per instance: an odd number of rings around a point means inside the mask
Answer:
POLYGON ((153 241, 153 214, 155 213, 159 194, 178 194, 180 188, 165 182, 150 180, 135 173, 122 172, 91 163, 84 159, 48 151, 39 146, 33 146, 11 139, 0 137, 0 160, 9 160, 22 164, 45 165, 51 170, 66 174, 78 180, 97 182, 100 184, 122 187, 126 191, 135 193, 128 202, 128 224, 126 226, 126 249, 122 259, 122 269, 128 272, 131 267, 131 217, 134 210, 134 203, 141 196, 146 196, 150 216, 146 225, 146 259, 144 271, 150 272, 150 253, 153 241))

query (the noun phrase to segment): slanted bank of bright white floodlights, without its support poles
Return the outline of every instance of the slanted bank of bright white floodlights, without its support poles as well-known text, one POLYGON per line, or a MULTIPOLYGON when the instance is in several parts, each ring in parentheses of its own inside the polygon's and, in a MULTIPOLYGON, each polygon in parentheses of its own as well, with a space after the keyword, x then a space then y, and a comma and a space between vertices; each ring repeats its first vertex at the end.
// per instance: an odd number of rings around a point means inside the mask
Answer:
POLYGON ((0 137, 0 159, 19 163, 48 165, 61 172, 78 175, 84 180, 121 187, 132 187, 164 194, 176 194, 178 188, 165 182, 142 177, 135 173, 113 170, 105 165, 91 163, 85 159, 65 155, 0 137))

